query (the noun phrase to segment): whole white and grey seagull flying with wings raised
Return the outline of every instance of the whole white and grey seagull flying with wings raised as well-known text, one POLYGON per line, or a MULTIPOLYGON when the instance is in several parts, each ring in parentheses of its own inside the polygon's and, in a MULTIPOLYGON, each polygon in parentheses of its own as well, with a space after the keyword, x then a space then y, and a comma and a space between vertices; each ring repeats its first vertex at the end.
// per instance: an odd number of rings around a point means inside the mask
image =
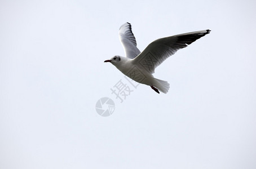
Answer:
POLYGON ((126 57, 116 55, 104 62, 112 63, 127 77, 150 86, 158 94, 160 94, 159 91, 166 94, 170 84, 153 77, 152 74, 155 73, 155 68, 167 57, 175 54, 179 49, 187 47, 192 42, 210 33, 210 31, 206 29, 160 38, 151 42, 144 51, 140 52, 131 31, 131 24, 125 23, 120 27, 118 35, 126 57))

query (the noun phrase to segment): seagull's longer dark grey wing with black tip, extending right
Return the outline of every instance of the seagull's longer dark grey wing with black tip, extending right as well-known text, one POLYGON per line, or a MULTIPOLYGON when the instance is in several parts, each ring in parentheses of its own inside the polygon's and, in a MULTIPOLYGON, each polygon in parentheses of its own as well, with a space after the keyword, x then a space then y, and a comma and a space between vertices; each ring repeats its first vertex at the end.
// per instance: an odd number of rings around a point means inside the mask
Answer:
POLYGON ((187 47, 208 33, 210 33, 209 29, 157 39, 135 57, 133 62, 143 66, 149 73, 154 73, 155 68, 167 59, 167 57, 175 54, 180 48, 187 47))

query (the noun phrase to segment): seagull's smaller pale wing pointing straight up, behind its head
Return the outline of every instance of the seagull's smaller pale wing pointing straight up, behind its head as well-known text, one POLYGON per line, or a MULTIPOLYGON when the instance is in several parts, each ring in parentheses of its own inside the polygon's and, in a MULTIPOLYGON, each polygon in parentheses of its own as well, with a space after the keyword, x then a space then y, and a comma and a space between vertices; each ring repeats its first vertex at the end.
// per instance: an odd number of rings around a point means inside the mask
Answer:
POLYGON ((134 34, 133 32, 131 32, 130 23, 123 24, 119 29, 118 35, 122 43, 122 46, 125 50, 126 57, 129 57, 130 59, 134 59, 134 57, 140 54, 140 51, 137 48, 137 43, 136 43, 134 34))

